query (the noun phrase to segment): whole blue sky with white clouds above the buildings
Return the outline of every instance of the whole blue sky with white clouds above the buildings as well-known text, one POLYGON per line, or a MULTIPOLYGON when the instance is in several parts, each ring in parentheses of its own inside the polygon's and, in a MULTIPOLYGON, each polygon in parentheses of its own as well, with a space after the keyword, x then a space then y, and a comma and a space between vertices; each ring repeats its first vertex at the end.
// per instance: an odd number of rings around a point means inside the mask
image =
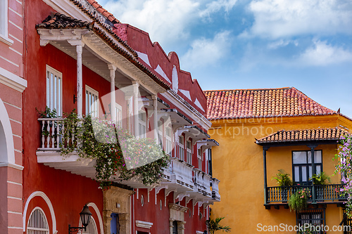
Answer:
POLYGON ((351 0, 99 0, 203 90, 294 86, 352 117, 351 0))

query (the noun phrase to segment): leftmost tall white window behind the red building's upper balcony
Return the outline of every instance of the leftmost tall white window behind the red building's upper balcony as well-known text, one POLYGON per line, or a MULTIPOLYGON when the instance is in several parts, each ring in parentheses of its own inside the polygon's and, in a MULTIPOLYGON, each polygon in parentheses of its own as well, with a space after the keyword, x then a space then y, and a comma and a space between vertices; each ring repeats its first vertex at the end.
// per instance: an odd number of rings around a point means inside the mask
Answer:
POLYGON ((46 106, 63 114, 63 74, 46 65, 46 106))

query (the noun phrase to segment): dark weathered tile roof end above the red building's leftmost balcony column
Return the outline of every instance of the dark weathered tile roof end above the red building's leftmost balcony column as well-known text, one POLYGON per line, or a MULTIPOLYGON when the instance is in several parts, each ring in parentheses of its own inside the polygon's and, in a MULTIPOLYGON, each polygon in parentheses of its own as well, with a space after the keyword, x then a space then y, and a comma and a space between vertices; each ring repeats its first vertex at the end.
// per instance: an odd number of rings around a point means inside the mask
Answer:
POLYGON ((63 15, 61 13, 55 13, 49 15, 43 22, 36 27, 40 28, 55 28, 55 29, 67 29, 67 28, 87 28, 92 29, 94 22, 87 22, 77 20, 70 16, 63 15))

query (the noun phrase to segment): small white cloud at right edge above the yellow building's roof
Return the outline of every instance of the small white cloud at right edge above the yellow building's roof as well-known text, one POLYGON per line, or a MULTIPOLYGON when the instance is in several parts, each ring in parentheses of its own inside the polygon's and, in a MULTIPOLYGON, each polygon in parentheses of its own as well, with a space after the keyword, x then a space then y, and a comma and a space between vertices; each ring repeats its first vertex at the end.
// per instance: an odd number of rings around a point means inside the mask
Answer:
POLYGON ((296 60, 299 65, 325 66, 345 62, 352 63, 352 52, 339 46, 331 46, 327 41, 314 41, 314 46, 307 48, 296 60))

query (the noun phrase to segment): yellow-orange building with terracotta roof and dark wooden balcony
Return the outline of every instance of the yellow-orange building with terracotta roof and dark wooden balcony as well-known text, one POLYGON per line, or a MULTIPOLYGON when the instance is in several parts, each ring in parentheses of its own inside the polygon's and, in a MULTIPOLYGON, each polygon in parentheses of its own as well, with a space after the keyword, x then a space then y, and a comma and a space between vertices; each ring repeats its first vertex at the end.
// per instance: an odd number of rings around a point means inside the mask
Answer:
POLYGON ((208 134, 220 143, 212 163, 221 202, 213 205, 212 216, 225 216, 221 224, 232 233, 296 233, 293 228, 304 223, 344 233, 338 227, 344 218, 339 174, 322 186, 310 178, 320 171, 334 174, 337 141, 351 132, 352 120, 295 88, 205 93, 213 124, 208 134), (272 177, 279 169, 294 186, 278 187, 272 177), (308 207, 290 212, 287 200, 303 188, 310 191, 308 207))

